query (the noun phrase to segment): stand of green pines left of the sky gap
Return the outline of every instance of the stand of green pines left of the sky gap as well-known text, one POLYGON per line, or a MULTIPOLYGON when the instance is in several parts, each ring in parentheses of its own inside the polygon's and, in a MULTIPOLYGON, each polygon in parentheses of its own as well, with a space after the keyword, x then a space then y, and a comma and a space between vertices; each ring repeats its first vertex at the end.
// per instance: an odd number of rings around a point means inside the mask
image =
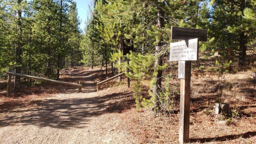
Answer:
POLYGON ((59 79, 61 68, 81 65, 79 25, 72 0, 0 0, 0 73, 59 79))

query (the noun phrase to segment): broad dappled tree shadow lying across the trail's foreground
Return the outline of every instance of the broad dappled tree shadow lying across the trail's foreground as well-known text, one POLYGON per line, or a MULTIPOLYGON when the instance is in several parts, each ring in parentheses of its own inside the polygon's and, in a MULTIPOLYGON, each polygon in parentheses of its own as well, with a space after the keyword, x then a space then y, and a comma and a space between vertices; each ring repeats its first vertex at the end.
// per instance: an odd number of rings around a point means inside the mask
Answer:
POLYGON ((122 93, 113 93, 101 97, 67 98, 61 100, 57 96, 50 100, 34 101, 35 104, 28 110, 14 109, 13 111, 9 111, 6 116, 2 116, 0 127, 9 125, 36 125, 39 127, 60 129, 69 129, 72 127, 84 128, 86 124, 90 123, 91 117, 100 116, 105 113, 121 112, 127 109, 126 104, 130 104, 133 99, 129 97, 130 92, 125 94, 126 96, 122 96, 122 93), (119 101, 124 105, 113 107, 119 101))

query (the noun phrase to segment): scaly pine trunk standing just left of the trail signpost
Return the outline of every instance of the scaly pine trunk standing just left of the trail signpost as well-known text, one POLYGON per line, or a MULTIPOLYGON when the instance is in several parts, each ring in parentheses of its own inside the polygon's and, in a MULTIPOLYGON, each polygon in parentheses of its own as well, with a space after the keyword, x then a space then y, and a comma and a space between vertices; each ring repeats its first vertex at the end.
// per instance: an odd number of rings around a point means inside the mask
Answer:
MULTIPOLYGON (((162 5, 157 6, 157 28, 164 28, 164 11, 162 10, 162 5)), ((156 52, 155 56, 159 55, 161 52, 161 47, 163 46, 163 39, 160 39, 159 42, 156 44, 156 52)), ((155 66, 154 66, 154 73, 157 73, 156 76, 154 76, 155 84, 153 86, 153 100, 154 100, 154 111, 160 110, 160 102, 159 102, 159 93, 161 92, 162 88, 162 70, 159 70, 157 67, 163 65, 163 54, 160 56, 157 56, 155 60, 155 66)))

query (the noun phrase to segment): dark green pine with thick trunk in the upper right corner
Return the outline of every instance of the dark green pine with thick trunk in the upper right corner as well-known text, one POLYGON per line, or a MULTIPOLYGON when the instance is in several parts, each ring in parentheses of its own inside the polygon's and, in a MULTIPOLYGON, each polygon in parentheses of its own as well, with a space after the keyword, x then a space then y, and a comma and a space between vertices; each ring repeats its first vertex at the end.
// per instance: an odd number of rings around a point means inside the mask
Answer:
POLYGON ((255 9, 253 1, 246 0, 215 0, 211 1, 212 8, 212 33, 217 41, 217 46, 225 48, 231 46, 239 52, 239 65, 245 64, 248 35, 251 31, 243 24, 245 8, 255 9), (239 45, 237 47, 236 45, 239 45))

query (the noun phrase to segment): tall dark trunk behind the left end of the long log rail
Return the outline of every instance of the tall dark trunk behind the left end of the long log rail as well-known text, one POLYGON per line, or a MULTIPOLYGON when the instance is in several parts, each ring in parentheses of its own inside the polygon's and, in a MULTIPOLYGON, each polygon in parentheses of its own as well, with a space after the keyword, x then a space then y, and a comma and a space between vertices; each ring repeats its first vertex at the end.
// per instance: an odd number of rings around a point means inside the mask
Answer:
MULTIPOLYGON (((21 41, 22 41, 22 28, 21 28, 21 0, 18 0, 18 41, 17 41, 17 52, 16 52, 16 73, 21 73, 21 41)), ((20 76, 15 76, 15 85, 19 85, 20 84, 20 76)))

